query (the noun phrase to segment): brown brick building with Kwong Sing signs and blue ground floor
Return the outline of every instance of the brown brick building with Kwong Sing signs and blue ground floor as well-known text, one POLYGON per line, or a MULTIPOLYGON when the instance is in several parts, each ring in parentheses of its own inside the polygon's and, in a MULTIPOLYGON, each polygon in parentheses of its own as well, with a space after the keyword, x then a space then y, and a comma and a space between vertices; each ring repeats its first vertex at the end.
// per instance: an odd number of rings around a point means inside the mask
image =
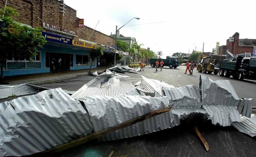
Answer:
MULTIPOLYGON (((0 0, 0 8, 3 9, 5 3, 6 0, 0 0)), ((63 0, 8 0, 7 6, 13 7, 19 13, 19 16, 13 17, 15 22, 26 24, 32 28, 42 27, 45 37, 52 36, 69 42, 48 41, 43 49, 39 49, 40 57, 37 58, 40 59, 35 61, 33 66, 28 66, 32 63, 26 59, 17 64, 14 60, 7 59, 4 76, 45 73, 57 69, 87 69, 90 67, 89 52, 94 44, 106 46, 104 56, 101 57, 104 65, 109 65, 112 62, 114 52, 110 52, 107 46, 109 43, 113 44, 114 39, 99 31, 93 32, 90 27, 78 27, 79 18, 76 17, 76 10, 63 4, 63 0), (82 42, 89 47, 80 47, 78 44, 74 44, 74 40, 88 40, 89 37, 89 43, 82 42), (59 68, 56 68, 59 65, 59 59, 61 59, 62 65, 60 64, 59 68)), ((92 68, 95 68, 99 64, 97 64, 97 60, 94 60, 92 65, 92 68)))

